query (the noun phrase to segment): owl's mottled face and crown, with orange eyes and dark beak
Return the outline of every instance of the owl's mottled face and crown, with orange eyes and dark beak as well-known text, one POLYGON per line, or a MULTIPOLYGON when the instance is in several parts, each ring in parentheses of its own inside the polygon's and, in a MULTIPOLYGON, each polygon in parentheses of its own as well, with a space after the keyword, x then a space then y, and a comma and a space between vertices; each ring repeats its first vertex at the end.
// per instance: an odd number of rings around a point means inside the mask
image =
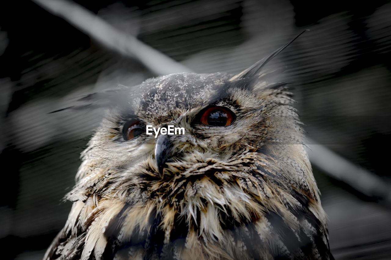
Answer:
MULTIPOLYGON (((178 172, 174 165, 240 158, 281 139, 283 135, 274 130, 279 125, 285 131, 294 128, 296 114, 284 84, 272 89, 256 79, 231 78, 226 73, 173 74, 122 91, 126 105, 109 112, 110 119, 104 120, 94 138, 111 149, 107 164, 120 162, 111 168, 126 169, 144 160, 150 173, 170 175, 178 172), (147 135, 147 125, 172 125, 185 133, 147 135), (193 158, 187 161, 188 157, 193 158)), ((300 131, 297 126, 294 130, 300 131)))

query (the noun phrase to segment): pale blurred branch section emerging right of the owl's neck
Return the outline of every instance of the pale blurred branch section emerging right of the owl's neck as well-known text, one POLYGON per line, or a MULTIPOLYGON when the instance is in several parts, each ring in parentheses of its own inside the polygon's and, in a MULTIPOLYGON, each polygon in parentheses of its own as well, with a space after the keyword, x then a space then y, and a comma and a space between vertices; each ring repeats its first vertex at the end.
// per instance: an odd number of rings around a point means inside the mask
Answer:
POLYGON ((321 144, 308 139, 308 155, 311 163, 332 178, 347 183, 369 197, 381 198, 391 205, 391 187, 382 178, 337 155, 321 144))

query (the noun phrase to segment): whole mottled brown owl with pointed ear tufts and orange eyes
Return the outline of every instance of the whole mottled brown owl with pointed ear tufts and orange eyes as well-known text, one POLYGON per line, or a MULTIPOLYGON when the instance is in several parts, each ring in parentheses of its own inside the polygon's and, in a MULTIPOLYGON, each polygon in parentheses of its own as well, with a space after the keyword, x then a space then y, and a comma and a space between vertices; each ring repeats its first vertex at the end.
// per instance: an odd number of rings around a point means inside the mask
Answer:
POLYGON ((333 259, 292 95, 262 71, 289 43, 84 98, 108 111, 44 259, 333 259))

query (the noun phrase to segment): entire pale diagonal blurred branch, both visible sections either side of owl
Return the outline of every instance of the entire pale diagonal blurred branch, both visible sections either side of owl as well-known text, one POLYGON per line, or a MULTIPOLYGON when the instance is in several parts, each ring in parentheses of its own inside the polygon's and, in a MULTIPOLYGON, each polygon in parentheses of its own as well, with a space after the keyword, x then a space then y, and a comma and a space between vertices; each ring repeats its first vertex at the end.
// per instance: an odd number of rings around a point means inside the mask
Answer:
MULTIPOLYGON (((134 57, 156 75, 190 72, 191 70, 163 53, 145 45, 136 37, 109 25, 84 7, 66 0, 32 0, 50 13, 63 18, 95 41, 127 57, 134 57)), ((367 196, 383 199, 391 205, 391 189, 378 176, 352 164, 321 144, 310 141, 312 164, 326 174, 341 180, 367 196)))

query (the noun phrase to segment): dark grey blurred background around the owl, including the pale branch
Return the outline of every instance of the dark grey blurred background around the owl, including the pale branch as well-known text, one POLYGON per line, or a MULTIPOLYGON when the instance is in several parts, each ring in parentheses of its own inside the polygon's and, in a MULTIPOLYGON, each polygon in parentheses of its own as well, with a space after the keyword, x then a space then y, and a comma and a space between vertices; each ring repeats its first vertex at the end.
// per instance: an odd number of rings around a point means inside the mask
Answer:
POLYGON ((180 71, 291 82, 335 259, 391 259, 391 3, 20 0, 0 4, 2 259, 41 259, 65 224, 100 111, 85 94, 180 71), (5 257, 5 258, 3 258, 5 257))

